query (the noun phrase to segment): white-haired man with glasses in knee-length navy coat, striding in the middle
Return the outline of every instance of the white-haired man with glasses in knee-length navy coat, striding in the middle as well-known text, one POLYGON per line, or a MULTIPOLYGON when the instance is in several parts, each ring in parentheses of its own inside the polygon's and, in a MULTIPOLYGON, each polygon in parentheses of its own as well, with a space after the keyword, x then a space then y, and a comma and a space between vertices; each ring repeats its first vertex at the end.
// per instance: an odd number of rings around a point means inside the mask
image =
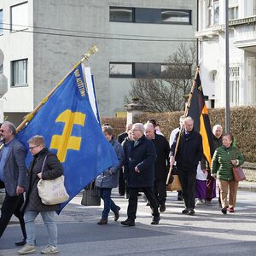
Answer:
POLYGON ((125 150, 125 179, 127 179, 130 196, 127 209, 128 218, 121 224, 134 226, 137 212, 137 193, 143 190, 147 196, 152 209, 153 220, 151 224, 159 224, 160 213, 158 203, 154 195, 154 162, 156 151, 154 143, 144 136, 143 124, 132 125, 131 136, 133 141, 129 142, 125 150))

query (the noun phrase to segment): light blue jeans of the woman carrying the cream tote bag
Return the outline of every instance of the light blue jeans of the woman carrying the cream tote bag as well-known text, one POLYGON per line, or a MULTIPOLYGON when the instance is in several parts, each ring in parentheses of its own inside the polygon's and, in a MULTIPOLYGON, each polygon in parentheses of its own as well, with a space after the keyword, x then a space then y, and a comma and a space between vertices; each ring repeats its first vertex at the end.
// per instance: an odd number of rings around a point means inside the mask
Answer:
POLYGON ((55 212, 36 212, 36 211, 26 211, 24 214, 24 220, 26 225, 26 244, 34 245, 36 239, 36 225, 35 218, 38 214, 41 213, 41 216, 44 220, 44 224, 47 227, 48 236, 49 236, 49 245, 57 246, 57 236, 58 230, 57 225, 55 224, 55 212))

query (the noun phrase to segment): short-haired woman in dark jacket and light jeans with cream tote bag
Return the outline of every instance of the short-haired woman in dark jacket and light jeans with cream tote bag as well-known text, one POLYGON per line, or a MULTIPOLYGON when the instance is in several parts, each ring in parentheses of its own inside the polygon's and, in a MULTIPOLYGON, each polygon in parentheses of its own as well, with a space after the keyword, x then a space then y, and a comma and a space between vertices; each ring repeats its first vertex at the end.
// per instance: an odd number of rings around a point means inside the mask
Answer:
POLYGON ((28 171, 29 186, 26 193, 25 224, 26 246, 18 253, 27 254, 36 252, 35 247, 35 218, 41 213, 44 224, 47 226, 49 245, 41 253, 58 253, 57 225, 55 224, 55 210, 59 205, 44 205, 38 195, 38 181, 42 179, 55 179, 63 174, 63 169, 57 156, 45 147, 44 137, 34 136, 28 141, 33 160, 28 171))

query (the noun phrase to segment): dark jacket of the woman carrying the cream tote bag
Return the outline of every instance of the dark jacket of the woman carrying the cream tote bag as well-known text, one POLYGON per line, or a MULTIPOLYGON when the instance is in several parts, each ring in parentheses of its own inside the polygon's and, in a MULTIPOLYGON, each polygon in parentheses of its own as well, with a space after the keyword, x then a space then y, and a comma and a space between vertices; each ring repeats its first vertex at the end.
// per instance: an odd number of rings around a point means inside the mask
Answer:
POLYGON ((44 205, 38 195, 38 173, 42 171, 43 163, 43 179, 55 179, 63 174, 63 168, 57 156, 49 152, 47 148, 44 148, 38 154, 34 155, 34 159, 32 160, 28 170, 29 187, 26 193, 26 201, 24 203, 26 207, 25 210, 47 212, 55 211, 59 207, 59 205, 44 205), (44 163, 44 158, 46 155, 47 158, 44 163))

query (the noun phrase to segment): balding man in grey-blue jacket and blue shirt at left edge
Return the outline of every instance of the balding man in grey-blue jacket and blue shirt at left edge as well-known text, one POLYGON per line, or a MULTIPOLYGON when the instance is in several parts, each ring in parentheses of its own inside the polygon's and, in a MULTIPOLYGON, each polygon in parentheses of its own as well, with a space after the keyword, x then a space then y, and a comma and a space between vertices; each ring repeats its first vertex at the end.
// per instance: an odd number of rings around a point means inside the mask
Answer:
POLYGON ((27 170, 25 165, 26 149, 15 138, 15 125, 4 122, 0 136, 3 137, 4 147, 0 152, 0 180, 5 186, 5 198, 1 208, 0 237, 9 224, 13 214, 20 220, 23 241, 16 242, 18 246, 26 244, 26 230, 23 214, 20 208, 23 204, 23 193, 27 185, 27 170))

